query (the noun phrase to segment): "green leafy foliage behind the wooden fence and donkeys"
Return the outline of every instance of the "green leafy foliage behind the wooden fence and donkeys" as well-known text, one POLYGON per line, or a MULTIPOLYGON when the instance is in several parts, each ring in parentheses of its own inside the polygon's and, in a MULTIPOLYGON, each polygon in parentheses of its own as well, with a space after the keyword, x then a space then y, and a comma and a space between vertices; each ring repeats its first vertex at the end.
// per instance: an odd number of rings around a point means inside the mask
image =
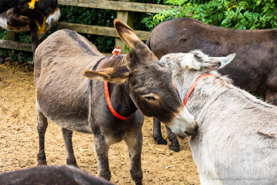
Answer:
MULTIPOLYGON (((161 10, 158 14, 135 12, 134 29, 150 31, 158 23, 177 17, 187 16, 212 24, 233 29, 277 29, 276 0, 136 0, 136 2, 167 4, 179 6, 170 10, 161 10)), ((60 5, 62 22, 113 26, 116 11, 60 5)), ((47 33, 49 36, 55 30, 47 33)), ((111 52, 114 38, 92 34, 81 34, 102 53, 111 52)), ((46 37, 47 37, 46 36, 46 37)), ((6 30, 0 32, 0 39, 6 39, 6 30)), ((30 43, 30 33, 19 33, 19 41, 30 43)), ((0 48, 3 58, 12 61, 32 60, 31 52, 0 48)))

